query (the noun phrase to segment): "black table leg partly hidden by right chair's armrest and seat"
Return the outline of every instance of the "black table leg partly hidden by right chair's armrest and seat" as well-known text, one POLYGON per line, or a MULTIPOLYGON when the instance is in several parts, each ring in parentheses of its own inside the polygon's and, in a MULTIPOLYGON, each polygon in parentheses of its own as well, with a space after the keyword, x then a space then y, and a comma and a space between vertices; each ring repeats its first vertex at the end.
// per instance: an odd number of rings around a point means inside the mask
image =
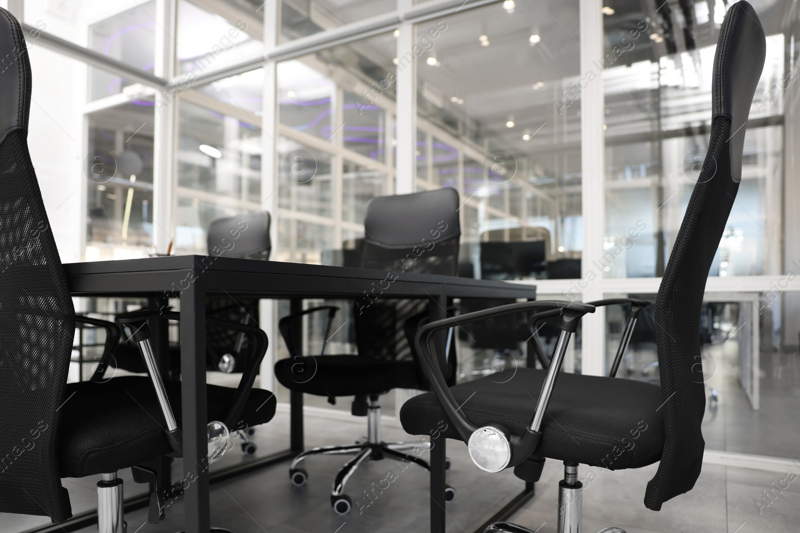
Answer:
MULTIPOLYGON (((431 296, 428 304, 430 321, 446 318, 447 297, 445 294, 431 296)), ((438 332, 434 339, 436 355, 442 372, 447 369, 446 342, 447 332, 438 332)), ((431 428, 434 430, 435 428, 431 428)), ((445 531, 445 456, 446 440, 442 436, 432 434, 430 450, 430 533, 444 533, 445 531)))

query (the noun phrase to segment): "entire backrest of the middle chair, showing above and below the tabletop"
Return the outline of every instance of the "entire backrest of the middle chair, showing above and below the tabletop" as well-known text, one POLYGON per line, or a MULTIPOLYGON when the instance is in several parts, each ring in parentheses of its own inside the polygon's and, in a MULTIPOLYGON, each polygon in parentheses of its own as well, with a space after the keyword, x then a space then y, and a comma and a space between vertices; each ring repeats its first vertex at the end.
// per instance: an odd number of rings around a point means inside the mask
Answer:
MULTIPOLYGON (((438 189, 373 198, 366 207, 364 234, 364 268, 394 272, 395 279, 402 279, 404 272, 454 276, 461 237, 458 192, 438 189)), ((425 309, 426 302, 419 300, 378 299, 368 306, 357 304, 358 355, 381 360, 415 358, 403 324, 418 321, 425 309)))

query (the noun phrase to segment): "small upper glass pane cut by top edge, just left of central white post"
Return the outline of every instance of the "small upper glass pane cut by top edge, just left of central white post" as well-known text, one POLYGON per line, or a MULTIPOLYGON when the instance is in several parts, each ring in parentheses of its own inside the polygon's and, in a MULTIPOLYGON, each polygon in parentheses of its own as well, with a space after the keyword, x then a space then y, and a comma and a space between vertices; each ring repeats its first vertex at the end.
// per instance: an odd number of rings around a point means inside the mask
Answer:
POLYGON ((317 34, 396 8, 397 0, 282 0, 281 40, 317 34))

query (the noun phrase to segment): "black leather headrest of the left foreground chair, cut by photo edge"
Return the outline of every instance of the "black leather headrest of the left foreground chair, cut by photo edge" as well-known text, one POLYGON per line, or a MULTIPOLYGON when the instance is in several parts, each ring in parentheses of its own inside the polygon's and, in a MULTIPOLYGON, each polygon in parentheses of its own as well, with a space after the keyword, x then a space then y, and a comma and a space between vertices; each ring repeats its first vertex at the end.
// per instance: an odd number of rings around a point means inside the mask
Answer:
POLYGON ((30 61, 22 28, 0 8, 0 144, 12 131, 28 129, 30 61))

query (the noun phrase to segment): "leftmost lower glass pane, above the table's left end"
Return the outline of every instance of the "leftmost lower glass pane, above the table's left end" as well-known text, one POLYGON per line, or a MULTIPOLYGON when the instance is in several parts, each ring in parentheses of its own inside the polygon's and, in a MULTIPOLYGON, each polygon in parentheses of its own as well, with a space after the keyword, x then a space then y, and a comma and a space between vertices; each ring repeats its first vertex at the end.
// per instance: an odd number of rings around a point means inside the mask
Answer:
POLYGON ((153 102, 117 105, 88 115, 86 241, 111 259, 113 245, 152 245, 153 102), (105 250, 103 252, 102 250, 105 250))

